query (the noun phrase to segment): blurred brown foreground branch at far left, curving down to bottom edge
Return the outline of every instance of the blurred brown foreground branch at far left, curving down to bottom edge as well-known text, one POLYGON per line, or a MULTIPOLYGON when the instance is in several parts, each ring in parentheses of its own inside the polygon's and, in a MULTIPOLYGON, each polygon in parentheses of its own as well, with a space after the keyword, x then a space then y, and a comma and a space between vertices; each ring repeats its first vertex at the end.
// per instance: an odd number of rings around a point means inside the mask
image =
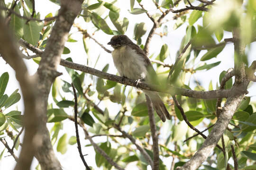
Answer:
POLYGON ((0 30, 0 54, 16 72, 16 78, 22 90, 25 107, 24 127, 26 132, 23 139, 23 147, 15 170, 29 170, 35 153, 35 147, 37 143, 39 143, 39 138, 35 138, 39 124, 37 114, 35 113, 40 112, 36 107, 36 103, 39 102, 36 95, 36 85, 34 80, 29 76, 27 67, 21 57, 22 54, 18 50, 18 46, 10 35, 9 28, 5 26, 4 20, 1 16, 0 30))

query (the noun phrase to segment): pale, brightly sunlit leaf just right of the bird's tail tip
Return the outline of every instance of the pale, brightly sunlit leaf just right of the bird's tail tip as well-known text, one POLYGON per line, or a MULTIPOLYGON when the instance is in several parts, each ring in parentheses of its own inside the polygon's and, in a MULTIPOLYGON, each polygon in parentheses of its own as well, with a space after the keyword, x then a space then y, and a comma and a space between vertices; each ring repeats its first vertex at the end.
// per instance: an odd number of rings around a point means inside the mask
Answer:
POLYGON ((183 120, 181 121, 177 126, 173 127, 173 140, 172 141, 178 141, 183 138, 183 136, 186 135, 187 130, 188 130, 188 125, 186 122, 183 120))

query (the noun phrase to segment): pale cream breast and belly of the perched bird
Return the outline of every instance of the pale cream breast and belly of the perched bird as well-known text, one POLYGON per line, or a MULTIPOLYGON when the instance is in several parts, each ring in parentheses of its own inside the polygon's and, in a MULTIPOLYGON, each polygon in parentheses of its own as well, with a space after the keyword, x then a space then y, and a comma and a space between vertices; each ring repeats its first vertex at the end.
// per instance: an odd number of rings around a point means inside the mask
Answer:
POLYGON ((114 64, 120 76, 131 79, 145 79, 147 74, 146 62, 143 56, 129 46, 123 46, 112 52, 114 64))

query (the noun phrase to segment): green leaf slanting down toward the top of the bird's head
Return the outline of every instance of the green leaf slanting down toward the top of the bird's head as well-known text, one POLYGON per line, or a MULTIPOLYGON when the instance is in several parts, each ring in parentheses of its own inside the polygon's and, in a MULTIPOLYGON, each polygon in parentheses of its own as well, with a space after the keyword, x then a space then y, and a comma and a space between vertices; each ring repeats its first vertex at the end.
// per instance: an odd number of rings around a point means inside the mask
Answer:
POLYGON ((102 19, 97 13, 91 13, 91 21, 97 28, 101 29, 104 33, 113 35, 112 30, 107 25, 106 21, 102 19))

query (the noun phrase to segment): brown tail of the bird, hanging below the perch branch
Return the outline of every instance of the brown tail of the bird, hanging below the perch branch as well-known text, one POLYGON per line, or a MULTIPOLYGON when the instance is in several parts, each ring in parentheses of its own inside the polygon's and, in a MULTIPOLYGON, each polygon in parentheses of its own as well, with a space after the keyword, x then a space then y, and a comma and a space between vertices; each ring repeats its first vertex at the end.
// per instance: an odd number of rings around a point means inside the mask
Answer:
POLYGON ((144 93, 146 93, 154 106, 154 109, 157 113, 157 115, 159 116, 159 118, 165 122, 166 118, 167 119, 171 119, 171 115, 169 114, 168 110, 165 107, 164 102, 162 101, 162 99, 159 97, 159 95, 156 92, 152 92, 152 91, 148 91, 148 90, 143 90, 144 93))

